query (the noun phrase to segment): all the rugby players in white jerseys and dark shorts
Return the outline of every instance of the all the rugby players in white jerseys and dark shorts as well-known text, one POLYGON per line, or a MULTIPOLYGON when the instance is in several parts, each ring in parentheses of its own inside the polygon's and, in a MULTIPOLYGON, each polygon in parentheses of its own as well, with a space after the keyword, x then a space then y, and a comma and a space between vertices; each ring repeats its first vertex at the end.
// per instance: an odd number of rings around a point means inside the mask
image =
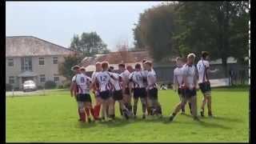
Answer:
MULTIPOLYGON (((209 57, 207 52, 202 52, 202 60, 194 66, 195 54, 187 55, 187 62, 182 58, 176 59, 177 68, 174 70, 174 90, 178 90, 180 102, 170 114, 170 121, 182 110, 185 113, 186 102, 189 101, 190 113, 198 120, 196 90, 199 87, 204 95, 201 115, 204 116, 204 106, 207 103, 208 115, 211 117, 210 82, 208 78, 209 57)), ((162 108, 158 102, 158 86, 152 62, 143 60, 142 66, 119 64, 118 70, 109 66, 108 62, 97 62, 96 70, 91 78, 86 76, 86 68, 73 66, 74 77, 70 86, 71 97, 78 102, 79 121, 91 122, 90 114, 94 120, 109 121, 115 118, 115 102, 119 103, 120 114, 126 118, 136 118, 138 99, 142 103, 142 119, 146 113, 151 117, 162 118, 162 108), (90 91, 95 97, 92 105, 90 91), (133 105, 131 99, 133 98, 133 105), (101 118, 99 116, 101 113, 101 118)))

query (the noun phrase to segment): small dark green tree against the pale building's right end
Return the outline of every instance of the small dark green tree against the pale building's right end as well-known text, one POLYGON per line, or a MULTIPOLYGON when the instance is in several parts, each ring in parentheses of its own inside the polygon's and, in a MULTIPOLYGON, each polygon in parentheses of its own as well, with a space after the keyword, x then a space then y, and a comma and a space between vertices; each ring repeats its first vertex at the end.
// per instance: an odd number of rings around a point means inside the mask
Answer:
POLYGON ((82 55, 79 54, 70 54, 64 57, 64 61, 59 64, 58 72, 66 79, 70 80, 74 75, 74 72, 71 70, 71 67, 78 65, 82 61, 82 55))

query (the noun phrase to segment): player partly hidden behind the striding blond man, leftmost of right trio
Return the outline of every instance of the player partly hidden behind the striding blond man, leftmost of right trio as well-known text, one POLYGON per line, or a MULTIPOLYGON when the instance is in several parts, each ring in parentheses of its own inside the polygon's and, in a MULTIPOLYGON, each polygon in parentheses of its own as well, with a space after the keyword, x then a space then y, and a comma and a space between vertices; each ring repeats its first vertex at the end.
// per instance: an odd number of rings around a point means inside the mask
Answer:
MULTIPOLYGON (((178 90, 178 96, 180 99, 180 102, 182 102, 182 82, 183 82, 183 71, 182 71, 182 66, 184 65, 184 61, 182 58, 178 57, 176 58, 176 68, 174 69, 174 90, 178 90)), ((182 114, 185 114, 185 105, 182 106, 182 114)), ((189 102, 190 106, 190 114, 192 114, 191 111, 191 104, 189 102)))

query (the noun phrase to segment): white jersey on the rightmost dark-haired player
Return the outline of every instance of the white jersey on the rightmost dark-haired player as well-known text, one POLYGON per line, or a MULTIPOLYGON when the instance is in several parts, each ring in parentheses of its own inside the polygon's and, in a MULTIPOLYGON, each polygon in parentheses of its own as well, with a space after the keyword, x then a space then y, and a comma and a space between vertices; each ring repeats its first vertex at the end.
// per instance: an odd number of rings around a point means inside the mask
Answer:
POLYGON ((210 68, 210 63, 206 60, 200 60, 198 62, 198 75, 199 75, 199 83, 209 81, 206 77, 206 69, 210 68))

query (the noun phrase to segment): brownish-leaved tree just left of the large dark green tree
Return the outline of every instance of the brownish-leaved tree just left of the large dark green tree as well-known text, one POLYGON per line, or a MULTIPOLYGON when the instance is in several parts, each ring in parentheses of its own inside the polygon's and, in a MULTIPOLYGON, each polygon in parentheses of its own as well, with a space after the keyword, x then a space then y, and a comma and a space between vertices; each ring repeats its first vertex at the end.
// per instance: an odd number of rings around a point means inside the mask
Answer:
POLYGON ((135 25, 135 46, 145 47, 155 61, 160 61, 175 52, 173 37, 176 30, 179 30, 174 22, 176 5, 166 3, 145 10, 135 25))

